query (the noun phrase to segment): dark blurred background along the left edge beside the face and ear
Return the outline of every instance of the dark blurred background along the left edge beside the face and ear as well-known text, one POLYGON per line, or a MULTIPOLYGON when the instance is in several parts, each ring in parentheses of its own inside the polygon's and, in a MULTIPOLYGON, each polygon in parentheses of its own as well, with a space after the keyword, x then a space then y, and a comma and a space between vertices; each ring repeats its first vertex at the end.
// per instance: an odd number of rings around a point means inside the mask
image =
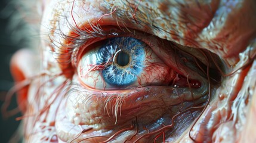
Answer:
MULTIPOLYGON (((20 42, 14 41, 11 37, 15 34, 10 29, 10 17, 14 15, 16 8, 10 4, 10 0, 0 1, 0 106, 4 102, 7 91, 13 86, 13 79, 10 74, 9 64, 11 56, 15 51, 21 48, 20 42)), ((16 98, 14 96, 10 108, 16 108, 16 98)), ((8 142, 13 133, 17 130, 20 122, 16 121, 16 117, 21 114, 3 119, 0 113, 0 142, 8 142)))

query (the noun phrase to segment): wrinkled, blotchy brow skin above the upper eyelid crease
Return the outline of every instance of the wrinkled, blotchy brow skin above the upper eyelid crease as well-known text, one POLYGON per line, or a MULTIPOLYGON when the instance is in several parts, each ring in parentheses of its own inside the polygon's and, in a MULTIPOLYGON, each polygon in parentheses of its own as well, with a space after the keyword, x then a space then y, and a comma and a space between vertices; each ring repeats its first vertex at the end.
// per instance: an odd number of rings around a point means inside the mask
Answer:
POLYGON ((230 66, 238 62, 239 52, 246 49, 256 32, 256 1, 249 0, 53 0, 45 4, 48 9, 44 13, 42 33, 51 33, 55 41, 61 41, 57 34, 60 30, 69 35, 70 24, 78 27, 90 27, 90 24, 97 23, 101 26, 121 26, 184 46, 208 49, 226 58, 230 66))

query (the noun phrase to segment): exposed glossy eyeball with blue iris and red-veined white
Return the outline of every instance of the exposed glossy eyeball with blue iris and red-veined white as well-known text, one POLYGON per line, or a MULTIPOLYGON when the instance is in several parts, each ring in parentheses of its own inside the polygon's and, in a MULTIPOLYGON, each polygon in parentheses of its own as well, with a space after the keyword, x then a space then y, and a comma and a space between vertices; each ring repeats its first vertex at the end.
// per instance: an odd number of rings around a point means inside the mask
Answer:
POLYGON ((169 85, 175 77, 174 71, 140 39, 124 36, 99 42, 100 46, 90 49, 79 60, 78 77, 84 86, 117 90, 169 85))

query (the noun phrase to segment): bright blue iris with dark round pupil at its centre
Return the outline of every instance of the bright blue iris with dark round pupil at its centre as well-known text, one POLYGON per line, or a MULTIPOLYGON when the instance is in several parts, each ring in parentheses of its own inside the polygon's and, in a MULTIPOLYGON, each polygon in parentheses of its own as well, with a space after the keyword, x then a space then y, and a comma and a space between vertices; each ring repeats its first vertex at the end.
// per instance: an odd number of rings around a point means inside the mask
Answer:
POLYGON ((111 63, 102 76, 112 86, 128 86, 144 68, 146 43, 129 37, 108 39, 97 51, 97 64, 111 63))

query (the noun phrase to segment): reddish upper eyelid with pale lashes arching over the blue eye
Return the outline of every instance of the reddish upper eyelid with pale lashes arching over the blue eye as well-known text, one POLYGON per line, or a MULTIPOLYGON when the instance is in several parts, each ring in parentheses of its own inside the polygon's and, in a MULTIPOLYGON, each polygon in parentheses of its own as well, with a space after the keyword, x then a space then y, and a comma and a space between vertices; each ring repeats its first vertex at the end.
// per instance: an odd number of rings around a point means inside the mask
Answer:
MULTIPOLYGON (((60 33, 58 33, 58 36, 63 40, 63 42, 54 41, 53 38, 51 38, 54 54, 57 55, 58 58, 56 60, 58 61, 58 64, 60 64, 61 70, 64 73, 64 76, 67 78, 72 78, 73 74, 76 72, 76 68, 78 65, 79 58, 84 53, 84 49, 90 50, 87 46, 90 46, 92 43, 103 41, 107 38, 114 38, 118 36, 134 36, 134 38, 140 39, 141 41, 147 43, 150 47, 158 46, 158 45, 152 45, 152 41, 145 41, 143 38, 140 38, 140 36, 147 36, 146 33, 128 29, 127 27, 121 28, 116 26, 100 26, 99 24, 90 24, 90 28, 87 27, 74 27, 69 22, 67 22, 69 25, 69 35, 65 35, 61 29, 59 28, 60 33), (139 36, 140 35, 140 36, 139 36), (60 45, 60 46, 58 46, 60 45), (64 60, 63 60, 64 59, 64 60), (64 61, 64 62, 63 62, 64 61)), ((153 39, 157 39, 157 37, 151 36, 153 39)), ((151 40, 152 40, 151 38, 151 40)), ((167 41, 167 40, 165 40, 167 41)), ((178 49, 177 45, 172 43, 171 41, 168 41, 167 46, 171 46, 175 51, 178 49)), ((170 48, 171 48, 170 47, 170 48)), ((158 49, 156 49, 158 50, 158 49)), ((173 55, 177 56, 177 55, 173 55)), ((165 63, 165 62, 164 62, 165 63)), ((178 66, 177 61, 175 61, 173 64, 178 66)), ((174 66, 171 66, 172 68, 176 69, 174 71, 177 71, 178 69, 174 66)), ((179 70, 177 73, 184 75, 184 73, 181 73, 179 70)), ((186 73, 186 71, 185 71, 186 73)))

